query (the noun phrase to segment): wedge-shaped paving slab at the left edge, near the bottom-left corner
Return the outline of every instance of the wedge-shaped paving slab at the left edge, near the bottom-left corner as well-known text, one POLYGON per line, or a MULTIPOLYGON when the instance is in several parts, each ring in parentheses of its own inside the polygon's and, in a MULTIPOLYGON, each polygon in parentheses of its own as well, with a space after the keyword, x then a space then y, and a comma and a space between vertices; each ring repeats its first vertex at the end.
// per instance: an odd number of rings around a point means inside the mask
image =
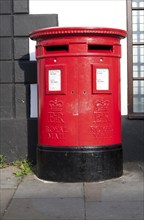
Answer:
POLYGON ((14 192, 15 189, 0 189, 0 218, 4 215, 14 192))

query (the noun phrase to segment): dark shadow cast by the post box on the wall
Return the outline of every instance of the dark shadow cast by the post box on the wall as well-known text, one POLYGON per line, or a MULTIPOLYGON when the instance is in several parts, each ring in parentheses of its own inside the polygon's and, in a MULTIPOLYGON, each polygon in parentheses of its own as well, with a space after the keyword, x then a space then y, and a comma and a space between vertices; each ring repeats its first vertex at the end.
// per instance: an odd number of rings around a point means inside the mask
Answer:
POLYGON ((29 61, 29 54, 19 59, 20 72, 25 86, 25 116, 27 121, 27 155, 32 163, 36 163, 36 146, 38 143, 37 118, 30 118, 30 84, 37 83, 37 62, 29 61))

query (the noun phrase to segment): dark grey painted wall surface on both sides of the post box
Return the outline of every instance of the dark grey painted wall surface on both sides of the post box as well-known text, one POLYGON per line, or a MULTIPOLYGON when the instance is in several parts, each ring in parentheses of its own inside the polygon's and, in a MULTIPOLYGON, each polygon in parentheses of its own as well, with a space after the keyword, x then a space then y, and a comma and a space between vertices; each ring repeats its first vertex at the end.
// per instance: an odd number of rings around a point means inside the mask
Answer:
MULTIPOLYGON (((28 0, 0 0, 0 147, 7 161, 36 160, 37 119, 30 118, 30 84, 37 66, 29 60, 29 32, 58 25, 58 16, 30 15, 28 0)), ((144 120, 122 116, 125 161, 144 159, 144 120)))

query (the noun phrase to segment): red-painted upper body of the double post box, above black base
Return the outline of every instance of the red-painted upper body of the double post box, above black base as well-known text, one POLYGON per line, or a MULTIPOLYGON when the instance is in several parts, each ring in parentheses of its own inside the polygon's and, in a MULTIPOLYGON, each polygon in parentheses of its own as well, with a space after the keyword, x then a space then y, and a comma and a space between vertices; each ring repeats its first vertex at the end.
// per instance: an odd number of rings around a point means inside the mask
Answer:
POLYGON ((46 28, 37 41, 39 145, 121 143, 120 39, 112 28, 46 28))

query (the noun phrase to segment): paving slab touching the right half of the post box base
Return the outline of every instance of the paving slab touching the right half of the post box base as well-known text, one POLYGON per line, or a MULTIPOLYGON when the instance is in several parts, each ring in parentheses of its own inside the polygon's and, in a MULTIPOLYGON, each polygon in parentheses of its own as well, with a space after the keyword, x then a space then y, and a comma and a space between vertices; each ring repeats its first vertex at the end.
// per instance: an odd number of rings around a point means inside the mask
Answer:
POLYGON ((144 174, 138 163, 127 163, 120 178, 85 183, 86 201, 143 201, 144 174))

